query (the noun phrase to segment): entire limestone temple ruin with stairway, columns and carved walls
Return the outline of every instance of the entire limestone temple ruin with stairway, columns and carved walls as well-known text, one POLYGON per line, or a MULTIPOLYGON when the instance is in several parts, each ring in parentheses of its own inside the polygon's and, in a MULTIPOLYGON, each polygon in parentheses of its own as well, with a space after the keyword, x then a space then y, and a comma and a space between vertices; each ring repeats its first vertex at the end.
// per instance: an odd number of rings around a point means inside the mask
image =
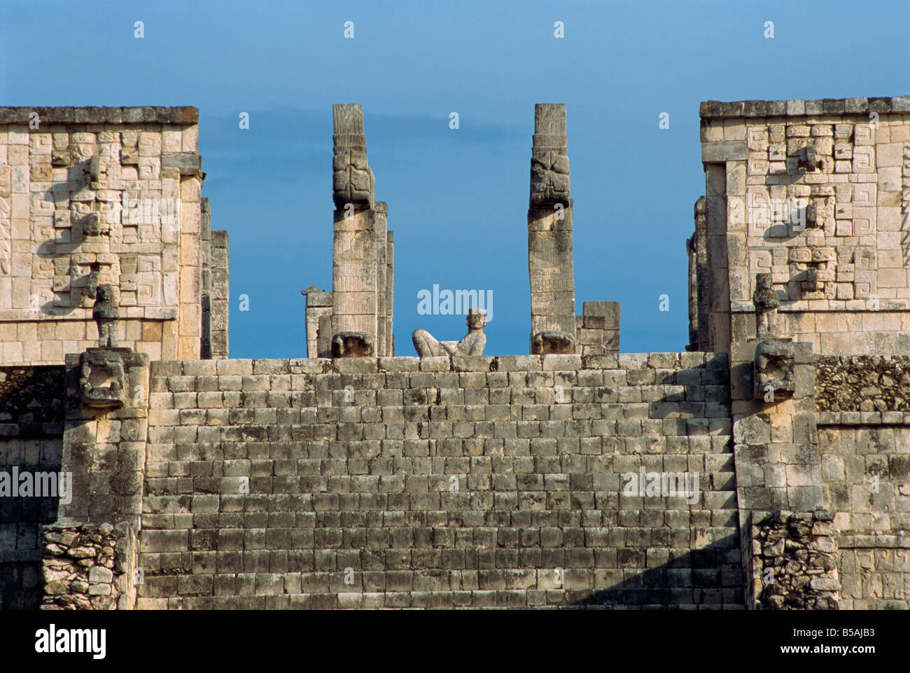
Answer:
POLYGON ((530 354, 396 352, 339 105, 307 357, 231 360, 197 109, 0 107, 0 607, 910 607, 910 97, 702 104, 680 353, 577 310, 566 113, 530 354))

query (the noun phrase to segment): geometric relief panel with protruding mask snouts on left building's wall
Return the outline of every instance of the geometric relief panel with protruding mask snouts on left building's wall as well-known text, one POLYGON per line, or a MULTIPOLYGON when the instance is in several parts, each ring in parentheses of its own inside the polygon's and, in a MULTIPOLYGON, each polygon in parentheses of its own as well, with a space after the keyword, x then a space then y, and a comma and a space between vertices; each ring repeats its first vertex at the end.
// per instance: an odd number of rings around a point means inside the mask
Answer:
POLYGON ((0 278, 32 281, 16 290, 17 308, 88 309, 105 283, 117 286, 124 306, 161 306, 165 295, 176 305, 182 203, 178 176, 162 179, 161 131, 21 135, 31 146, 10 142, 10 156, 0 158, 0 278), (134 155, 126 166, 121 153, 134 155), (19 240, 28 250, 15 248, 19 240), (167 283, 164 264, 173 271, 167 283))

